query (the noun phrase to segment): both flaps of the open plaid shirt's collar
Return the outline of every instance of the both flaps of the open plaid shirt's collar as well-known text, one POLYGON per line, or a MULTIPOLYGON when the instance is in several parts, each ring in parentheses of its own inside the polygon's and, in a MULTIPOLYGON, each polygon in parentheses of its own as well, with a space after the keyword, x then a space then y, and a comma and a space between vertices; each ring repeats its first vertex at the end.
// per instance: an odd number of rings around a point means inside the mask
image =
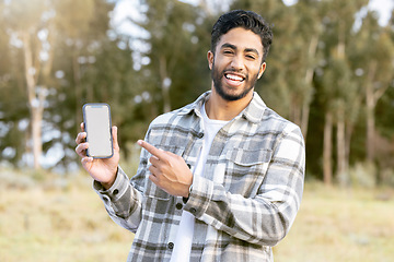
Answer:
MULTIPOLYGON (((207 91, 202 95, 200 95, 194 103, 183 107, 179 110, 179 115, 188 115, 192 111, 195 111, 197 116, 201 116, 200 108, 202 104, 208 99, 210 95, 210 91, 207 91)), ((251 103, 247 105, 247 107, 235 118, 244 117, 251 122, 259 122, 263 118, 264 110, 267 108, 266 104, 263 102, 262 97, 254 92, 253 98, 251 103)))

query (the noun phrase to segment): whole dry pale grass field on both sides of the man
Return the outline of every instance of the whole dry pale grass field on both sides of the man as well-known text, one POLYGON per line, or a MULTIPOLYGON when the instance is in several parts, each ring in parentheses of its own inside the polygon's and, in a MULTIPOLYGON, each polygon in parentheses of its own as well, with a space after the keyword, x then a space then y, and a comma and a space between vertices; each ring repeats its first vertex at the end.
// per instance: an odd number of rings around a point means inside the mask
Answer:
MULTIPOLYGON (((0 180, 1 262, 126 261, 132 234, 108 218, 86 175, 0 180)), ((393 261, 394 191, 306 183, 274 253, 276 262, 393 261)))

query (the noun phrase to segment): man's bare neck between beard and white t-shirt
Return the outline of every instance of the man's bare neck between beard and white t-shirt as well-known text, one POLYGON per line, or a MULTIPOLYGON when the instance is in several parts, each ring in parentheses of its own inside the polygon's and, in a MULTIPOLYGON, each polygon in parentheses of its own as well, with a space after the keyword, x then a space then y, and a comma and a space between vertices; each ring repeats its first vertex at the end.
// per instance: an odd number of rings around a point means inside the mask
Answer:
POLYGON ((253 91, 239 100, 225 100, 212 87, 205 109, 209 119, 230 121, 247 107, 252 98, 253 91))

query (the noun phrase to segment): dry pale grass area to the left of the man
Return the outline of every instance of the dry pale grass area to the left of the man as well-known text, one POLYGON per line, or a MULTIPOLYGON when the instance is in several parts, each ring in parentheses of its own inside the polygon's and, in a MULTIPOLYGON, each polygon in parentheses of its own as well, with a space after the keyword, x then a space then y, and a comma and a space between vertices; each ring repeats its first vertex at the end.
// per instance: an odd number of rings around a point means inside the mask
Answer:
POLYGON ((126 261, 134 235, 107 216, 90 177, 23 181, 0 186, 1 262, 126 261))

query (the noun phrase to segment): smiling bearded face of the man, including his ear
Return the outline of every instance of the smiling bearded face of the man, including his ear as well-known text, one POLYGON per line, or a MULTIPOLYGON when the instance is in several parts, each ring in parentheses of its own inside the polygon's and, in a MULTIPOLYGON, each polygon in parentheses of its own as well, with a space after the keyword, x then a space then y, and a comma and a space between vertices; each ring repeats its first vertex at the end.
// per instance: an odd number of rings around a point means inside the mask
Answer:
POLYGON ((215 56, 208 52, 216 93, 225 100, 239 100, 251 95, 266 67, 262 60, 262 40, 252 31, 236 27, 222 35, 215 56))

